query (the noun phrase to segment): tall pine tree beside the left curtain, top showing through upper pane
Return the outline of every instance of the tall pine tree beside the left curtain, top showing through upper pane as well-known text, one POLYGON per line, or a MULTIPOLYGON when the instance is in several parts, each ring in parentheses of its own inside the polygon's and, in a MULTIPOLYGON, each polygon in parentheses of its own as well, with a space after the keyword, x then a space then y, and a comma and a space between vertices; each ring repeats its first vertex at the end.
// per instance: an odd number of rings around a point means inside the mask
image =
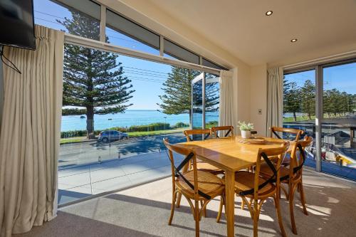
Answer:
MULTIPOLYGON (((58 21, 68 33, 98 39, 99 21, 75 11, 71 14, 73 19, 58 21)), ((122 76, 117 57, 114 53, 81 46, 66 44, 64 47, 63 105, 85 107, 90 138, 94 137, 94 114, 125 112, 132 105, 127 102, 135 90, 130 90, 131 80, 122 76)))

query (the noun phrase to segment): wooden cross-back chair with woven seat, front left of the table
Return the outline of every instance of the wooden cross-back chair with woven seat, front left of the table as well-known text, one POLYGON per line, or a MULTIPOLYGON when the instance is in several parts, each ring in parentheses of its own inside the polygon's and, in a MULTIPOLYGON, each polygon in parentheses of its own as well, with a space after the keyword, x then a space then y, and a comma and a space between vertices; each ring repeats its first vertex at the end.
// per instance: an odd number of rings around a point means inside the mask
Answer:
MULTIPOLYGON (((182 194, 186 197, 192 210, 195 221, 195 236, 199 236, 199 221, 202 214, 204 214, 206 205, 216 196, 221 196, 221 201, 224 200, 224 182, 214 174, 197 169, 197 157, 192 149, 169 144, 167 138, 163 139, 163 142, 168 149, 172 167, 172 206, 168 224, 172 224, 177 194, 182 194), (185 159, 178 167, 174 165, 173 152, 185 156, 185 159), (190 161, 193 163, 192 170, 181 172, 180 170, 190 161), (200 209, 199 202, 202 204, 200 209)), ((218 216, 221 216, 221 213, 218 216)))

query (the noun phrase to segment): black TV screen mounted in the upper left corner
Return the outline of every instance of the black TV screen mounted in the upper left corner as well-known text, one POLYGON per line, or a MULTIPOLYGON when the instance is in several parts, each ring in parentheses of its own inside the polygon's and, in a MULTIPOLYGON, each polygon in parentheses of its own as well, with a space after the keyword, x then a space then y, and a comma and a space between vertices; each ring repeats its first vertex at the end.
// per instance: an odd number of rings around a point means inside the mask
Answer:
POLYGON ((33 0, 0 0, 0 45, 36 49, 33 0))

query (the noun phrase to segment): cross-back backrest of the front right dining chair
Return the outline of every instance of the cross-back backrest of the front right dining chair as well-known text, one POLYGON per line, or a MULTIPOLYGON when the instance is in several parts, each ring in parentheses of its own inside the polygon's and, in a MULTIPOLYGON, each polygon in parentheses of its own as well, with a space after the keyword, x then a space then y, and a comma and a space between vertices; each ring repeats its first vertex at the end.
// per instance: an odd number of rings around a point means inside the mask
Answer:
POLYGON ((272 183, 272 182, 276 182, 277 189, 279 189, 279 186, 281 184, 279 169, 281 168, 281 164, 287 152, 288 147, 289 147, 289 142, 283 142, 281 144, 281 147, 258 149, 253 189, 242 191, 240 192, 240 194, 242 195, 253 194, 253 199, 258 199, 258 191, 262 189, 264 186, 266 186, 268 183, 272 183), (278 157, 278 162, 274 163, 268 157, 278 157), (273 176, 271 176, 271 178, 269 178, 268 180, 260 184, 260 178, 261 178, 260 170, 261 170, 262 159, 264 160, 264 162, 268 164, 268 167, 270 167, 270 169, 273 171, 273 176))

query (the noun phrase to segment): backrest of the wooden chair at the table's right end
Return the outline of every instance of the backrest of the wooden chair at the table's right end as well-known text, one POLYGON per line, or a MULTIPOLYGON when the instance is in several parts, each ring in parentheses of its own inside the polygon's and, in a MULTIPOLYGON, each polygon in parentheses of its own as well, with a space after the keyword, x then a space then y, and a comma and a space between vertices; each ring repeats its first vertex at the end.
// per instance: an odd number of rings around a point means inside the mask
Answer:
POLYGON ((305 136, 303 140, 299 140, 293 144, 292 152, 290 152, 289 177, 302 172, 306 159, 305 147, 309 147, 312 143, 313 137, 305 136))

